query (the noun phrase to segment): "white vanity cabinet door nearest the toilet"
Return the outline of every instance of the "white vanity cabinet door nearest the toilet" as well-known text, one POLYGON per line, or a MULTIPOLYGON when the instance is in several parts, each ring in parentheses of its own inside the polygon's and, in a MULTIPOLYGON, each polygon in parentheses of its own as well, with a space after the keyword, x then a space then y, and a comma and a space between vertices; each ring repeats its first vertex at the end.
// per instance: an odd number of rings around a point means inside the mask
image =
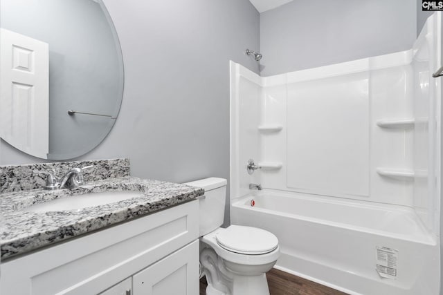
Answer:
POLYGON ((133 295, 199 294, 199 240, 133 276, 133 295))

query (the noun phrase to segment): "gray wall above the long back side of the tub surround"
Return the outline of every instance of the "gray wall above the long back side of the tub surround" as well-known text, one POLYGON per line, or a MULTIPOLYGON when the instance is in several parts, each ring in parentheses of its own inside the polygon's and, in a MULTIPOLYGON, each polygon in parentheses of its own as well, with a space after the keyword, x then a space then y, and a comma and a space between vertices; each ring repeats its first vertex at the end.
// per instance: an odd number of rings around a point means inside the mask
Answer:
POLYGON ((310 0, 260 14, 263 76, 410 49, 416 0, 310 0))

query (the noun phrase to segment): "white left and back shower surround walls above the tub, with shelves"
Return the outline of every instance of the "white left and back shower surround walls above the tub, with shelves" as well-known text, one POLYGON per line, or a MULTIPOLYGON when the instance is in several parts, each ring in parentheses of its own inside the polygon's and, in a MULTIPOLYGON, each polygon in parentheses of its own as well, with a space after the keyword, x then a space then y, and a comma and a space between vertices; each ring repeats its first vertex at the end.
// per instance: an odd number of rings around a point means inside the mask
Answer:
POLYGON ((271 77, 231 63, 233 196, 261 182, 412 207, 413 179, 386 176, 413 178, 415 153, 428 153, 414 150, 432 124, 415 120, 415 104, 426 105, 415 99, 414 60, 407 50, 271 77), (264 169, 244 175, 248 159, 264 169))

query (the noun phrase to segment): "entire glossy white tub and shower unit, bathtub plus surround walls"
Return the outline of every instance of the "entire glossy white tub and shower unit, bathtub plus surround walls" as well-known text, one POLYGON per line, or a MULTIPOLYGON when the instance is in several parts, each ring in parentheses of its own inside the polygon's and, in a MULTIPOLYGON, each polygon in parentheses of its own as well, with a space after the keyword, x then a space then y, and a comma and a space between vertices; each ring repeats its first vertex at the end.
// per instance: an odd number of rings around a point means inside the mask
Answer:
POLYGON ((275 234, 277 267, 350 294, 438 294, 440 25, 404 52, 271 77, 231 62, 231 222, 275 234))

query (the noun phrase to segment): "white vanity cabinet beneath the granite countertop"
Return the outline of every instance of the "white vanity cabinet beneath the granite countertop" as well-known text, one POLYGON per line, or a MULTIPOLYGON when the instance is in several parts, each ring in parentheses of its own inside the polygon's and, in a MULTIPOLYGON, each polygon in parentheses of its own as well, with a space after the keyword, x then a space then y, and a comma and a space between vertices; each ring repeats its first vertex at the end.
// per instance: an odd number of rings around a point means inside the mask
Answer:
POLYGON ((6 260, 0 294, 127 295, 131 282, 131 295, 198 294, 198 211, 193 200, 6 260))

